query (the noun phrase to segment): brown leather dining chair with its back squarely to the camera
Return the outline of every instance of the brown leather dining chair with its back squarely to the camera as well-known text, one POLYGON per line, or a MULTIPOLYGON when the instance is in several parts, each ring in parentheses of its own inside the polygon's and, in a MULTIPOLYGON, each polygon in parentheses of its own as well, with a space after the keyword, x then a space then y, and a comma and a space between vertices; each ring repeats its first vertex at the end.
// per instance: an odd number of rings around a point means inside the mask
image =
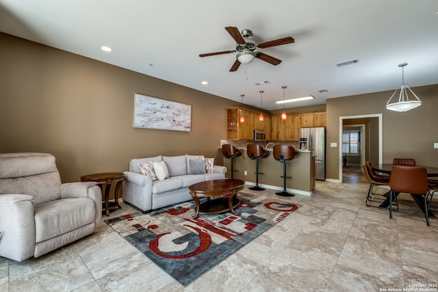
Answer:
MULTIPOLYGON (((429 225, 429 204, 427 202, 429 185, 426 168, 410 165, 392 165, 389 187, 391 187, 391 192, 389 193, 390 201, 392 201, 394 197, 397 198, 396 192, 422 196, 424 202, 424 216, 426 217, 426 224, 429 225)), ((389 204, 389 218, 392 218, 391 204, 389 204)))

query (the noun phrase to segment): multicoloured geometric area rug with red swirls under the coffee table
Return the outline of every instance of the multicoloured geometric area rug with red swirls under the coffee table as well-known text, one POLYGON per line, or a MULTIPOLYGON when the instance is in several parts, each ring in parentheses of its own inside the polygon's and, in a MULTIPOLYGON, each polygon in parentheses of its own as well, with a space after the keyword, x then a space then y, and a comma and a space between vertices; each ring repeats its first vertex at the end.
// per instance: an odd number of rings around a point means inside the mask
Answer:
POLYGON ((194 201, 105 220, 184 287, 298 209, 285 198, 240 192, 235 213, 200 215, 194 201))

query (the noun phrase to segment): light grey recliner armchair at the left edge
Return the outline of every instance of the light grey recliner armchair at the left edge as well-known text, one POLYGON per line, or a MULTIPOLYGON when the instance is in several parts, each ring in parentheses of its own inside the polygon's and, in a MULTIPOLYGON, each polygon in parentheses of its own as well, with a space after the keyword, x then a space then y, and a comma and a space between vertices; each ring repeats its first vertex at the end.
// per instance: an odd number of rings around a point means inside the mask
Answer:
POLYGON ((61 183, 53 155, 0 153, 0 256, 42 256, 90 235, 101 217, 101 188, 61 183))

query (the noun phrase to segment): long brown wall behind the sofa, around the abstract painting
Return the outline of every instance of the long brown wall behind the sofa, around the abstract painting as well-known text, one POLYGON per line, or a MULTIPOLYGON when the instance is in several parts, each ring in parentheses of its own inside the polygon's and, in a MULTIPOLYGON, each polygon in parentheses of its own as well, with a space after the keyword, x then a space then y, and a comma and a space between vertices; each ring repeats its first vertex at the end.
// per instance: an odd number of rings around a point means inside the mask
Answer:
POLYGON ((153 155, 214 157, 225 98, 0 33, 0 152, 49 152, 62 181, 153 155), (135 93, 192 105, 192 131, 133 128, 135 93))

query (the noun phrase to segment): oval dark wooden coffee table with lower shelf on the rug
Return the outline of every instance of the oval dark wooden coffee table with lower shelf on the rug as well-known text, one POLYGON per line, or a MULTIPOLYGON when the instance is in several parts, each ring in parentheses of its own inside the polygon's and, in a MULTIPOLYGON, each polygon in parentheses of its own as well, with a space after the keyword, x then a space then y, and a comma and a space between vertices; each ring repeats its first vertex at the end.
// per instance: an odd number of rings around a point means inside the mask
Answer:
POLYGON ((240 179, 215 179, 213 181, 203 181, 195 183, 189 187, 196 207, 193 218, 199 214, 218 214, 226 211, 235 213, 234 208, 240 203, 237 199, 237 192, 243 189, 245 182, 240 179), (201 203, 199 198, 206 198, 201 203), (210 200, 210 198, 218 197, 210 200))

